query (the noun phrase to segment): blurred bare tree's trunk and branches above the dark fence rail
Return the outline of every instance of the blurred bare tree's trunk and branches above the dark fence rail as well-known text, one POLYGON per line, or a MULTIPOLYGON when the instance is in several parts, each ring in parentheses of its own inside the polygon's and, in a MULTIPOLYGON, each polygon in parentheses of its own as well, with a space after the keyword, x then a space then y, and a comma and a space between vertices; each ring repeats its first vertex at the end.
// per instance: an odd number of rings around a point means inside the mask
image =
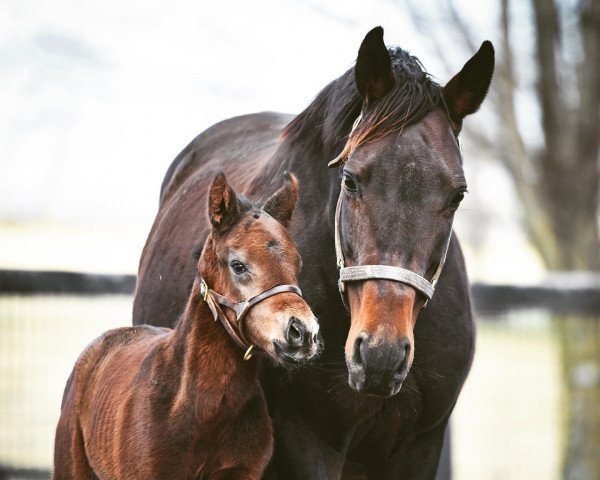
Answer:
MULTIPOLYGON (((439 3, 464 49, 475 51, 478 43, 455 5, 450 0, 439 3)), ((583 0, 561 10, 555 0, 531 0, 535 51, 528 68, 536 71, 544 136, 542 145, 535 147, 524 140, 517 121, 520 82, 514 66, 510 5, 509 0, 499 3, 499 60, 490 94, 499 128, 490 138, 467 125, 468 135, 480 147, 494 151, 506 167, 521 201, 524 227, 546 267, 600 271, 600 2, 583 0), (561 41, 565 36, 579 37, 571 42, 579 48, 565 48, 561 41)), ((425 29, 415 5, 411 12, 415 23, 425 29)), ((441 45, 441 39, 434 38, 433 46, 443 59, 441 45)))

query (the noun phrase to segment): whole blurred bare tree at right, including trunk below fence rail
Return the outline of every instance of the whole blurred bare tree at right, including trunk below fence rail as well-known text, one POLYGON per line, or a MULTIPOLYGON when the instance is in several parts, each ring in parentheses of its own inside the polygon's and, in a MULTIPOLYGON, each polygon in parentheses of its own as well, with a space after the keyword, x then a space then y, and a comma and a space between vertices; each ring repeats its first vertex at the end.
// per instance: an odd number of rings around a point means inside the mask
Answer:
MULTIPOLYGON (((510 0, 499 1, 499 61, 490 101, 497 130, 466 125, 467 136, 494 151, 513 181, 525 231, 549 270, 600 271, 600 1, 530 0, 534 42, 526 65, 522 39, 512 33, 510 0), (520 67, 520 68, 517 68, 520 67), (543 141, 526 141, 519 125, 524 70, 533 70, 533 93, 543 141)), ((514 5, 513 5, 514 6, 514 5)), ((520 7, 523 6, 521 3, 520 7)), ((410 11, 440 58, 451 29, 464 50, 475 51, 473 29, 452 0, 439 0, 445 29, 431 28, 416 2, 410 11)), ((466 54, 466 53, 465 53, 466 54)), ((450 70, 450 69, 449 69, 450 70)), ((565 376, 566 433, 563 475, 596 478, 600 472, 600 324, 558 319, 565 376)))

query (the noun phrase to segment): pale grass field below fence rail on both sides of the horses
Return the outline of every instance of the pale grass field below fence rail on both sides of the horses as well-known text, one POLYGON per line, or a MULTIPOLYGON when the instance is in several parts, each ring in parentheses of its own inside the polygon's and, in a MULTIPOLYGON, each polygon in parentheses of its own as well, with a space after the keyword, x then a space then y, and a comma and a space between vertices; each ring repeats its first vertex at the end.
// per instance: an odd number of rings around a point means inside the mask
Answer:
MULTIPOLYGON (((131 323, 131 300, 0 297, 0 463, 51 465, 71 367, 97 335, 131 323)), ((544 316, 480 322, 453 418, 455 480, 559 478, 559 360, 544 316)))

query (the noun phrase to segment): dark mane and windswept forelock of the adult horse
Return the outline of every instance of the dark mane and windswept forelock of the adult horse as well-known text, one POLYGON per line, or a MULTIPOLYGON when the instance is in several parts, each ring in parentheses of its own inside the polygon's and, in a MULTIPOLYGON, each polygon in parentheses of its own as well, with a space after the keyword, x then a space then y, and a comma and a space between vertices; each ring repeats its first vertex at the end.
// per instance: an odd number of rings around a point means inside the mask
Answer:
MULTIPOLYGON (((442 103, 440 85, 431 79, 417 57, 398 47, 388 51, 394 71, 394 86, 373 103, 352 132, 342 152, 345 157, 365 142, 402 131, 442 103)), ((339 144, 361 112, 362 102, 353 67, 321 90, 315 100, 287 125, 283 137, 292 141, 312 140, 322 147, 339 149, 339 144), (315 138, 319 132, 320 138, 315 138), (306 138, 307 135, 313 138, 306 138)))

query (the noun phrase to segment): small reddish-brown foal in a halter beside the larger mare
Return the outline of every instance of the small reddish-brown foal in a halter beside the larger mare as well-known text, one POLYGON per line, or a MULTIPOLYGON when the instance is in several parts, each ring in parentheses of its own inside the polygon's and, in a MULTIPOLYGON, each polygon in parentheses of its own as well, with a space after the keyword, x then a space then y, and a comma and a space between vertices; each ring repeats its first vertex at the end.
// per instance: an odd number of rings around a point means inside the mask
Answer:
POLYGON ((288 363, 310 359, 319 343, 296 286, 300 257, 287 227, 297 180, 287 180, 259 208, 217 175, 212 230, 176 328, 111 330, 77 360, 55 480, 261 477, 272 429, 256 361, 244 361, 249 347, 288 363))

